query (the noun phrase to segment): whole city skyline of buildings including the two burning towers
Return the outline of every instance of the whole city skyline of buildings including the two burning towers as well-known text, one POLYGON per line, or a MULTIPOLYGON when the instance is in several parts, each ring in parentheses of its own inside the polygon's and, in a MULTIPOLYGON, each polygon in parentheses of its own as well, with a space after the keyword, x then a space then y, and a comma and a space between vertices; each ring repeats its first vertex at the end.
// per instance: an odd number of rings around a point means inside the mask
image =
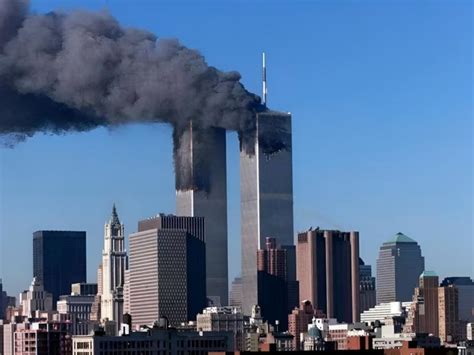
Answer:
POLYGON ((29 289, 16 303, 0 283, 2 354, 471 351, 473 281, 440 284, 413 239, 383 243, 376 277, 356 231, 310 228, 295 241, 291 115, 256 123, 241 142, 242 272, 230 292, 226 134, 191 124, 177 215, 139 221, 127 249, 114 206, 97 283, 87 283, 85 232, 33 234, 29 289))

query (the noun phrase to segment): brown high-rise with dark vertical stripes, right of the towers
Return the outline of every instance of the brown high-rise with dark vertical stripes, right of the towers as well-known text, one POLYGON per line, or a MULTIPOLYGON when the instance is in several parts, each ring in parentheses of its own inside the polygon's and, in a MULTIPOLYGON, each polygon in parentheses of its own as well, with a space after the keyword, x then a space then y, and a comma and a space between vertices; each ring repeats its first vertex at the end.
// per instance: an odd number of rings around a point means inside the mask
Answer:
POLYGON ((298 234, 300 299, 328 318, 359 319, 359 233, 309 230, 298 234))

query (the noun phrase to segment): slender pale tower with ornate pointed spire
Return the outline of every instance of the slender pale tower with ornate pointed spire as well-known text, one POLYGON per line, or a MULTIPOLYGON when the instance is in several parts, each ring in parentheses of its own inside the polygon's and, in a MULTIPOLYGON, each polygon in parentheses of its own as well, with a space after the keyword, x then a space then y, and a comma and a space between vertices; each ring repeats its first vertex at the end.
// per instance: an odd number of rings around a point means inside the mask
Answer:
POLYGON ((102 320, 114 321, 117 329, 123 317, 124 273, 127 264, 124 226, 120 223, 115 205, 112 216, 104 227, 104 249, 102 251, 102 320))

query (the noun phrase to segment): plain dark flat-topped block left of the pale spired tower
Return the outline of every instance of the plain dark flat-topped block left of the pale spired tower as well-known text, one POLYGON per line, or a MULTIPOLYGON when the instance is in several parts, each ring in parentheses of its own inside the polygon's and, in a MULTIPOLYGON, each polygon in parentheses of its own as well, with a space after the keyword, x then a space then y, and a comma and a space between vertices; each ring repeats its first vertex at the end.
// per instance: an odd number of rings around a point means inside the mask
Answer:
POLYGON ((52 293, 54 306, 71 284, 86 282, 86 232, 33 233, 33 277, 52 293))

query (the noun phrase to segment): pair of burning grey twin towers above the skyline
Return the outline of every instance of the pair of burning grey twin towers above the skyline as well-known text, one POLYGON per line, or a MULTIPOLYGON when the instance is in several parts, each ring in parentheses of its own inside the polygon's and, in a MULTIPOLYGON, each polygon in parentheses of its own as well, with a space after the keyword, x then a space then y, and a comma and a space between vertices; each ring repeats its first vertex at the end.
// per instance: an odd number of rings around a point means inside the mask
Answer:
MULTIPOLYGON (((257 250, 266 237, 279 245, 293 245, 293 173, 291 114, 264 111, 256 115, 255 136, 247 137, 251 149, 240 152, 240 214, 242 254, 242 308, 250 314, 257 304, 257 250), (278 138, 276 138, 278 136, 278 138), (272 139, 285 144, 269 152, 272 139)), ((206 128, 193 132, 192 124, 181 135, 176 164, 191 172, 192 187, 176 191, 177 215, 204 217, 206 287, 208 298, 228 303, 226 132, 206 128), (199 181, 198 181, 199 180, 199 181), (205 180, 202 187, 200 181, 205 180)), ((189 173, 188 173, 189 174, 189 173)))

